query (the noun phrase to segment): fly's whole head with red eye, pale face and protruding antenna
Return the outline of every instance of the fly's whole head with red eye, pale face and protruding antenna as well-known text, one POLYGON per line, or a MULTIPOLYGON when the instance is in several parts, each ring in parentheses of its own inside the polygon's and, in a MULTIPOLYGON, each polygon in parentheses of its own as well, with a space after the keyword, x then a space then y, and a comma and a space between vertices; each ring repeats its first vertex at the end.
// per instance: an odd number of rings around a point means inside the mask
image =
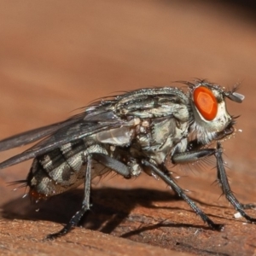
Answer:
POLYGON ((189 83, 190 108, 193 113, 190 131, 202 144, 229 137, 234 131, 235 118, 228 113, 225 98, 242 102, 244 96, 234 90, 226 91, 218 84, 205 80, 189 83))

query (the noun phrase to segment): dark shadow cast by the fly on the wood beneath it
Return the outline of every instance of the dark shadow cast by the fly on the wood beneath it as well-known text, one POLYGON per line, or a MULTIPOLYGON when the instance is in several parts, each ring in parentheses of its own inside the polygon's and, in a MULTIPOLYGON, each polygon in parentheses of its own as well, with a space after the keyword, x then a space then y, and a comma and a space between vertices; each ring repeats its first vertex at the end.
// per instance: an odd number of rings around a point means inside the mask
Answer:
MULTIPOLYGON (((83 195, 83 189, 74 189, 61 195, 55 195, 48 201, 40 201, 34 204, 31 203, 29 198, 18 198, 3 205, 1 215, 3 218, 8 219, 48 220, 55 223, 67 224, 73 214, 79 210, 83 201, 83 195)), ((172 212, 175 210, 193 212, 183 207, 158 207, 154 205, 154 202, 171 202, 177 200, 177 195, 157 189, 92 189, 92 207, 89 212, 84 214, 84 218, 82 218, 80 224, 87 229, 100 230, 103 233, 110 234, 119 224, 128 218, 129 213, 137 206, 156 209, 167 208, 172 210, 172 212)), ((207 205, 201 201, 197 202, 207 205)), ((133 218, 136 218, 137 222, 141 220, 143 223, 143 215, 138 214, 137 216, 133 216, 133 218)), ((168 221, 155 216, 152 216, 152 218, 159 220, 159 224, 155 224, 154 221, 154 225, 148 225, 147 230, 153 230, 161 226, 193 226, 200 229, 209 229, 203 223, 200 226, 171 223, 172 214, 170 214, 168 221)), ((137 230, 137 233, 139 232, 137 230)), ((130 232, 123 236, 127 237, 129 234, 130 232)))

